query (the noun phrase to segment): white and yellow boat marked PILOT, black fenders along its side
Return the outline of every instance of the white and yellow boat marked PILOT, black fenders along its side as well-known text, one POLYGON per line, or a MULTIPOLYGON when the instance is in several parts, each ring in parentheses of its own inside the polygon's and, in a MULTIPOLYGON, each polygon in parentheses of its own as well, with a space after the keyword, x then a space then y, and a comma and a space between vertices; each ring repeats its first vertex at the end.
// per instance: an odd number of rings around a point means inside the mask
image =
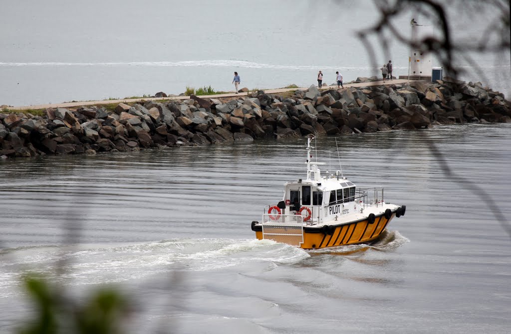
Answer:
POLYGON ((383 187, 358 187, 341 171, 321 175, 322 162, 311 161, 307 138, 307 178, 286 182, 284 197, 267 205, 262 221, 251 224, 259 240, 274 240, 304 249, 367 244, 376 240, 406 205, 385 202, 383 187))

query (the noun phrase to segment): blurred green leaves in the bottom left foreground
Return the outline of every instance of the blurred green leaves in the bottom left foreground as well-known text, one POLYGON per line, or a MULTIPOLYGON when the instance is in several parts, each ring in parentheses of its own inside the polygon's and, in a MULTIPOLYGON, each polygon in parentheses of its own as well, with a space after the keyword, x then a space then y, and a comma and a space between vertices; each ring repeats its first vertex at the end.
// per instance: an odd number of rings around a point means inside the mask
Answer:
POLYGON ((35 319, 27 321, 18 334, 124 332, 122 323, 129 313, 129 304, 114 289, 101 288, 78 302, 41 277, 27 276, 25 286, 36 308, 35 319))

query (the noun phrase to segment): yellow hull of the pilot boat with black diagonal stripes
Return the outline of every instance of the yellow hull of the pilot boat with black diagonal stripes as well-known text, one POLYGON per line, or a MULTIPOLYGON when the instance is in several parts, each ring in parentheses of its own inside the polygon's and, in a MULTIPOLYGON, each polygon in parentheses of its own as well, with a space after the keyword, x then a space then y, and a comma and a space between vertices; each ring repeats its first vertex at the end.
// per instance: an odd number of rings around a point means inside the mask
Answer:
MULTIPOLYGON (((343 245, 365 244, 373 241, 382 234, 385 227, 396 216, 392 213, 389 219, 383 214, 377 216, 374 223, 369 223, 368 219, 344 223, 339 225, 328 225, 328 228, 305 227, 303 236, 304 242, 300 244, 301 248, 319 249, 343 245)), ((271 232, 265 229, 266 232, 271 232)), ((256 231, 255 237, 263 240, 263 232, 256 231)), ((268 239, 268 237, 266 237, 268 239)), ((287 243, 285 235, 272 235, 271 240, 280 243, 287 243)))

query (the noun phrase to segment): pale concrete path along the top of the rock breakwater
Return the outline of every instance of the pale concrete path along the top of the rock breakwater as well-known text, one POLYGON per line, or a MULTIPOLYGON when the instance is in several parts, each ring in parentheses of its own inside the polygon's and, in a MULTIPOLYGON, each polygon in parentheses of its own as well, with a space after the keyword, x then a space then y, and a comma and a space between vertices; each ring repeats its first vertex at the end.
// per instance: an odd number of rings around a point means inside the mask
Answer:
MULTIPOLYGON (((407 79, 393 79, 393 80, 385 80, 384 81, 373 81, 373 82, 361 82, 354 84, 346 84, 344 88, 348 87, 366 87, 366 86, 379 86, 379 85, 392 85, 392 84, 402 84, 406 82, 416 81, 416 80, 407 80, 407 79)), ((337 85, 334 86, 323 86, 321 90, 326 89, 337 89, 337 85)), ((301 88, 280 88, 280 89, 265 89, 264 91, 267 94, 274 93, 282 93, 286 91, 295 91, 297 89, 307 90, 309 87, 301 87, 301 88)), ((217 94, 217 95, 201 95, 200 98, 234 98, 239 96, 246 96, 247 93, 227 93, 227 94, 217 94)), ((70 107, 81 107, 81 106, 92 106, 92 105, 100 105, 100 104, 109 104, 109 103, 131 103, 137 101, 161 101, 161 100, 188 100, 189 96, 180 96, 180 97, 171 97, 171 98, 142 98, 142 99, 124 99, 124 100, 103 100, 103 101, 82 101, 82 102, 67 102, 67 103, 55 103, 55 104, 40 104, 40 105, 30 105, 30 106, 18 106, 18 107, 9 107, 9 110, 27 110, 27 109, 46 109, 46 108, 70 108, 70 107)))

